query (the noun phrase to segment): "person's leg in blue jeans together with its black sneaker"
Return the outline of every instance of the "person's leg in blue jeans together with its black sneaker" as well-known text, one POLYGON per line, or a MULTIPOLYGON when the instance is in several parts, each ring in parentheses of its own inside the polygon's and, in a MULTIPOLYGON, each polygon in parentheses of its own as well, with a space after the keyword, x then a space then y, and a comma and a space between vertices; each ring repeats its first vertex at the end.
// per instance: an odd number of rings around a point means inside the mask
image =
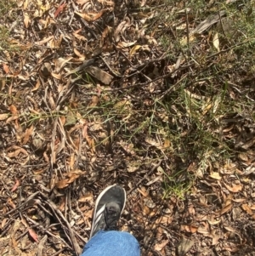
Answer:
POLYGON ((139 243, 131 234, 117 230, 126 203, 126 191, 108 186, 95 202, 90 239, 82 256, 139 256, 139 243))

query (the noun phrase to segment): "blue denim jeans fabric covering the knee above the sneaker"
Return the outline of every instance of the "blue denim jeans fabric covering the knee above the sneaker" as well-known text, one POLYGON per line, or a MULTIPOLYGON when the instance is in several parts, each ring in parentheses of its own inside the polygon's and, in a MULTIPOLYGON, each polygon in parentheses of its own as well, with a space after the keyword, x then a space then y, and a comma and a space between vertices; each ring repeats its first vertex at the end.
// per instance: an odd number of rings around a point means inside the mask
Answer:
POLYGON ((139 243, 131 234, 99 230, 83 248, 81 256, 140 256, 139 243))

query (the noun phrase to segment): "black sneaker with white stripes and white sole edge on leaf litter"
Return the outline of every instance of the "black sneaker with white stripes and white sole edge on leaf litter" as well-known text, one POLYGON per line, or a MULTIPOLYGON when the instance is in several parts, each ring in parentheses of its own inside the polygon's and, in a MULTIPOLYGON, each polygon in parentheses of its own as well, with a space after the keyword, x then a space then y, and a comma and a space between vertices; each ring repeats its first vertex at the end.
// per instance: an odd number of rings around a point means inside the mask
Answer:
POLYGON ((119 185, 110 185, 99 194, 94 206, 90 238, 99 230, 117 230, 126 203, 126 191, 119 185))

